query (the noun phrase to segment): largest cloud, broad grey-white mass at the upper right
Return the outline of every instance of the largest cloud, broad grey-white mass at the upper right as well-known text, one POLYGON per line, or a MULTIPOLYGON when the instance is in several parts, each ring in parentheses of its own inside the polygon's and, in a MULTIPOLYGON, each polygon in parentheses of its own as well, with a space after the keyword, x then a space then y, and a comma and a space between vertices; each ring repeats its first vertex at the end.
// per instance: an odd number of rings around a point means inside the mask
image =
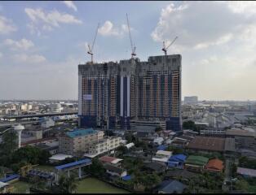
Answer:
POLYGON ((162 9, 151 36, 159 42, 178 36, 174 47, 205 49, 240 37, 255 20, 256 2, 183 2, 179 6, 170 3, 162 9))

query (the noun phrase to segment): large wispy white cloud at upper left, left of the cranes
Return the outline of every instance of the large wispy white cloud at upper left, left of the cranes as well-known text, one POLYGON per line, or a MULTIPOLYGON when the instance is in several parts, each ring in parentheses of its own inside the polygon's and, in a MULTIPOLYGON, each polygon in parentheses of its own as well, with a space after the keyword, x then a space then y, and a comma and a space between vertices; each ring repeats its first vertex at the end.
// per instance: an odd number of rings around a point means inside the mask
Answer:
POLYGON ((41 28, 45 31, 51 31, 53 28, 60 27, 60 24, 82 24, 82 20, 78 20, 75 16, 60 13, 59 11, 46 13, 40 8, 25 8, 24 11, 31 20, 31 23, 28 24, 30 32, 38 32, 38 35, 41 34, 41 28))

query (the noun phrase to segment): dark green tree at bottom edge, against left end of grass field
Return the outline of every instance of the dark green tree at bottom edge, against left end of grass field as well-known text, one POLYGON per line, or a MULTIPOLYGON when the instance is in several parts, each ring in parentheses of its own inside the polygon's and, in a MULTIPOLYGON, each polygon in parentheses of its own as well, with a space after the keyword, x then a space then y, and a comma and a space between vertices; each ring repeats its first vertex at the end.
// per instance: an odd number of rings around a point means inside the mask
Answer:
POLYGON ((77 189, 77 182, 75 180, 75 177, 71 175, 68 176, 60 176, 59 180, 59 190, 60 193, 74 193, 77 189))

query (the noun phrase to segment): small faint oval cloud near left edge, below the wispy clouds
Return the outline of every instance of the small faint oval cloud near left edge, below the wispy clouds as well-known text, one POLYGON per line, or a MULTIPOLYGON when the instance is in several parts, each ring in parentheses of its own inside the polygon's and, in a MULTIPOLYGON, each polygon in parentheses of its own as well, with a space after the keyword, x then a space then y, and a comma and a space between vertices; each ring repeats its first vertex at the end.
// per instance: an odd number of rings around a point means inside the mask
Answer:
POLYGON ((34 46, 33 41, 27 40, 25 38, 21 39, 20 41, 6 39, 4 44, 10 46, 12 50, 29 50, 34 46))

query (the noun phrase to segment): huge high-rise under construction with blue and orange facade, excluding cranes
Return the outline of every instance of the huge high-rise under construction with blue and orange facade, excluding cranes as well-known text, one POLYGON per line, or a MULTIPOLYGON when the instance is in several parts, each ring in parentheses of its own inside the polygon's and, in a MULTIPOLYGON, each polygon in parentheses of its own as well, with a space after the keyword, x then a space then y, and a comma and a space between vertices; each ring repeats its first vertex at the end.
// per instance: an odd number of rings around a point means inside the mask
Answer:
POLYGON ((130 129, 130 120, 166 121, 180 131, 181 55, 78 65, 79 124, 130 129))

